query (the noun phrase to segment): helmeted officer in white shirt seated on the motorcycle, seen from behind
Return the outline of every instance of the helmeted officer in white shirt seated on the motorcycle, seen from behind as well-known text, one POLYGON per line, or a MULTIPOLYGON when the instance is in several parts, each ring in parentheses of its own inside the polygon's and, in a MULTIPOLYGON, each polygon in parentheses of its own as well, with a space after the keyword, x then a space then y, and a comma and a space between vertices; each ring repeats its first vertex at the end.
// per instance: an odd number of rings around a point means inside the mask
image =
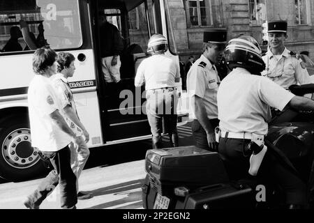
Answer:
MULTIPOLYGON (((227 66, 232 72, 223 79, 217 94, 221 130, 218 152, 230 178, 234 179, 248 176, 251 155, 248 145, 256 137, 263 139, 267 135, 270 107, 314 110, 313 100, 296 96, 260 76, 265 68, 261 53, 260 46, 251 36, 232 39, 225 49, 227 66)), ((293 168, 283 163, 278 162, 276 150, 271 145, 257 176, 281 185, 288 207, 300 208, 306 204, 306 185, 293 168)))

